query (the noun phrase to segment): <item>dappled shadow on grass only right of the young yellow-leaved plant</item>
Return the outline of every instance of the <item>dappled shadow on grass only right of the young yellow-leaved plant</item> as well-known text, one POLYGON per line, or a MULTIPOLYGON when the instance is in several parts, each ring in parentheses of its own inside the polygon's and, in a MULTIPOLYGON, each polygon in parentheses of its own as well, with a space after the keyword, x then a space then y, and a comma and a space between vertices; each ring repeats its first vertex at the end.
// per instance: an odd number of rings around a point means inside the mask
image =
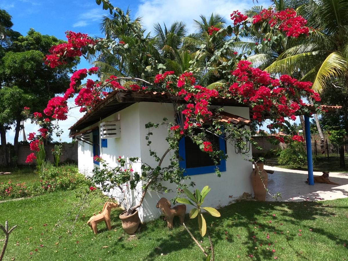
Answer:
MULTIPOLYGON (((325 206, 327 202, 317 201, 302 201, 302 202, 257 202, 257 201, 242 201, 240 203, 232 204, 230 206, 219 209, 222 218, 214 219, 215 227, 230 228, 244 227, 247 230, 247 240, 238 240, 235 243, 241 243, 246 246, 248 253, 255 253, 255 248, 258 248, 256 254, 254 254, 255 260, 270 260, 273 259, 274 254, 270 251, 276 245, 276 241, 272 240, 274 234, 282 234, 286 237, 288 246, 292 247, 292 242, 295 238, 301 236, 302 232, 292 231, 288 232, 283 226, 283 223, 293 224, 298 226, 302 221, 315 221, 318 217, 332 217, 335 212, 332 211, 332 207, 325 206), (243 206, 242 206, 243 205, 243 206), (272 216, 272 213, 282 212, 278 214, 281 216, 281 221, 278 221, 278 217, 272 216), (227 217, 228 216, 228 217, 227 217), (225 217, 225 218, 224 218, 225 217), (266 220, 265 220, 266 219, 266 220), (269 221, 267 222, 267 219, 269 221), (255 236, 255 231, 263 232, 263 237, 255 236), (267 238, 269 236, 269 238, 267 238), (260 248, 260 246, 267 246, 269 250, 260 248)), ((211 217, 207 218, 207 223, 212 221, 211 217)), ((310 231, 310 226, 302 224, 303 231, 310 231)), ((315 233, 325 236, 327 239, 332 240, 335 244, 343 244, 345 240, 338 238, 337 235, 325 229, 313 229, 313 236, 315 233)), ((224 239, 224 233, 221 229, 215 229, 212 233, 214 243, 224 239)), ((238 238, 239 235, 237 235, 238 238)), ((233 242, 233 240, 229 240, 233 242)), ((301 255, 302 253, 296 253, 301 255)), ((307 259, 302 255, 303 259, 307 259)))

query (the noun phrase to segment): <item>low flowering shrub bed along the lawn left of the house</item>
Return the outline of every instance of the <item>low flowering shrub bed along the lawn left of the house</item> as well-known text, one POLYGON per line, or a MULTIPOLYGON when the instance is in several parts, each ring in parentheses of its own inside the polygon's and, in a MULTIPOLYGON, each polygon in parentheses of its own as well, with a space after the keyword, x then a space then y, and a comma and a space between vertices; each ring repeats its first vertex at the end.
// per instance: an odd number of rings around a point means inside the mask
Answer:
POLYGON ((0 199, 38 196, 56 190, 72 190, 87 184, 85 176, 78 172, 76 165, 55 167, 47 164, 39 173, 40 183, 26 185, 25 182, 2 182, 0 184, 0 199))

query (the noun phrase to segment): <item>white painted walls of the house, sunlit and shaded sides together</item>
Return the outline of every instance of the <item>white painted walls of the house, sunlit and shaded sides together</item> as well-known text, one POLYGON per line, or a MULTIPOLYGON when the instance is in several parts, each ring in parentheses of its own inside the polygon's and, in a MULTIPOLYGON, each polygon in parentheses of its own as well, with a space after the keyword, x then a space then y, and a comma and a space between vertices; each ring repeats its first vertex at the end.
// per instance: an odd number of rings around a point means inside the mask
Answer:
MULTIPOLYGON (((242 107, 224 107, 224 110, 238 116, 248 118, 249 109, 242 107)), ((149 155, 149 147, 145 136, 148 129, 145 124, 148 122, 161 122, 166 117, 169 120, 174 118, 174 109, 171 103, 153 103, 140 102, 129 106, 128 108, 114 113, 111 116, 101 119, 93 126, 99 125, 102 121, 120 119, 121 137, 117 139, 108 139, 108 148, 101 148, 100 156, 108 161, 111 166, 115 166, 118 156, 121 157, 140 157, 143 162, 156 166, 158 163, 149 155)), ((89 126, 90 128, 92 126, 89 126)), ((87 128, 86 128, 87 129, 87 128)), ((167 129, 162 126, 158 129, 152 129, 153 135, 150 137, 151 149, 157 151, 160 157, 168 148, 165 138, 167 137, 167 129)), ((79 142, 79 170, 87 175, 91 174, 93 169, 93 153, 92 146, 79 142)), ((214 173, 193 175, 191 180, 194 181, 196 188, 202 189, 205 185, 209 185, 211 191, 205 199, 205 206, 220 207, 226 206, 232 201, 243 195, 244 192, 252 194, 252 186, 250 180, 250 173, 252 172, 252 165, 249 161, 243 160, 239 154, 235 153, 234 147, 227 143, 226 172, 222 172, 221 177, 217 177, 214 173)), ((251 155, 251 151, 250 151, 251 155)), ((168 153, 162 166, 169 163, 168 153)), ((135 171, 140 172, 140 164, 132 166, 135 171)), ((175 185, 169 182, 163 183, 168 188, 175 190, 175 185)), ((128 201, 132 202, 135 198, 135 204, 139 202, 141 197, 142 184, 138 184, 136 191, 127 191, 128 201)), ((118 193, 114 191, 113 197, 118 197, 118 193)), ((150 191, 145 196, 142 206, 138 209, 139 216, 142 222, 155 219, 160 216, 161 212, 156 208, 157 201, 161 197, 166 197, 168 200, 175 197, 176 193, 166 193, 161 195, 157 192, 150 191)), ((188 211, 191 208, 188 207, 188 211)))

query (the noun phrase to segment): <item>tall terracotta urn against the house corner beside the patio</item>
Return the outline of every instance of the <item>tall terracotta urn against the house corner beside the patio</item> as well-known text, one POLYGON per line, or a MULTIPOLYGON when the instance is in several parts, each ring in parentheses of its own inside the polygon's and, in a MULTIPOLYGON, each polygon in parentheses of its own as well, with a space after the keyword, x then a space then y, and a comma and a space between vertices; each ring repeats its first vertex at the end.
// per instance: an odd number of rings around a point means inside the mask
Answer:
POLYGON ((267 188, 268 174, 263 169, 263 163, 256 163, 255 169, 251 173, 251 182, 253 184, 255 199, 265 201, 267 192, 264 187, 267 188))

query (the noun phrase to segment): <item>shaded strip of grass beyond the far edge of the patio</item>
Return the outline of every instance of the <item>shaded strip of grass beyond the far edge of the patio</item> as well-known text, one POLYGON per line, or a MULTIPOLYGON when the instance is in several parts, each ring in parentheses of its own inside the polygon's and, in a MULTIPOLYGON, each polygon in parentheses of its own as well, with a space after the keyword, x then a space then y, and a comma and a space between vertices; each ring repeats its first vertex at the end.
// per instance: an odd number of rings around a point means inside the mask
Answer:
MULTIPOLYGON (((340 159, 336 154, 330 154, 329 159, 327 159, 327 155, 318 155, 318 157, 314 157, 313 170, 314 171, 330 171, 330 172, 348 172, 348 157, 345 157, 346 167, 340 167, 340 159)), ((287 169, 299 169, 299 170, 307 170, 307 164, 301 168, 293 168, 291 165, 279 165, 276 157, 267 158, 266 165, 275 166, 279 168, 287 168, 287 169)))

